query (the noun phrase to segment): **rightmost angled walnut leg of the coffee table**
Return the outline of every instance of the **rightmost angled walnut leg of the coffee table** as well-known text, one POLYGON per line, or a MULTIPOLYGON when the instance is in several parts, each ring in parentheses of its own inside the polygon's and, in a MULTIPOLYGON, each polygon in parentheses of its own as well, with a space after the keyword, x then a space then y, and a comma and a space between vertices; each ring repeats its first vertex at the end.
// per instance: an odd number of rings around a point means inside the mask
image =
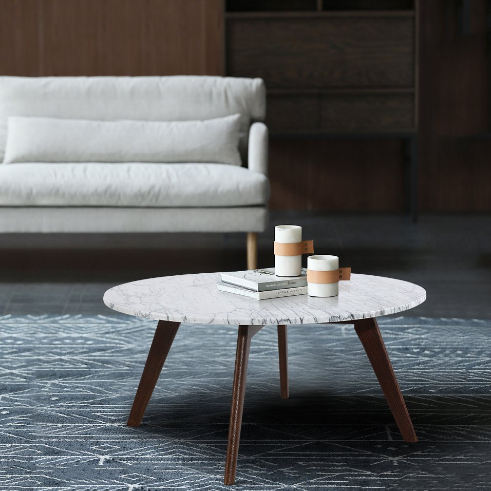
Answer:
POLYGON ((377 379, 379 379, 382 391, 404 441, 416 443, 418 438, 416 432, 414 432, 406 403, 395 377, 376 319, 355 320, 354 329, 365 348, 373 371, 377 379))

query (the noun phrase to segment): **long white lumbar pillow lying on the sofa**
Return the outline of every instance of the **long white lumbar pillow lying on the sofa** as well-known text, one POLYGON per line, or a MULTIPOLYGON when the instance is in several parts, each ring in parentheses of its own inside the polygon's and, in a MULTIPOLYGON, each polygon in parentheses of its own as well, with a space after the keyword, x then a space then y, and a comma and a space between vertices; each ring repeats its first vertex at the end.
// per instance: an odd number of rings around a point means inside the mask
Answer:
POLYGON ((8 118, 4 163, 214 162, 241 165, 240 115, 204 121, 8 118))

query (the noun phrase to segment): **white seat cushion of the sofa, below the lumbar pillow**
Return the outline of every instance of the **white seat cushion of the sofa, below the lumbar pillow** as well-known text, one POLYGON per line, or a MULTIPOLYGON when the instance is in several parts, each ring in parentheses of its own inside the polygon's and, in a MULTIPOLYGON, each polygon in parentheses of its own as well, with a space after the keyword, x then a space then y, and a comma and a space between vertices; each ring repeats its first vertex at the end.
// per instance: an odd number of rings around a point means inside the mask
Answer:
POLYGON ((0 206, 265 205, 268 178, 226 164, 0 165, 0 206))

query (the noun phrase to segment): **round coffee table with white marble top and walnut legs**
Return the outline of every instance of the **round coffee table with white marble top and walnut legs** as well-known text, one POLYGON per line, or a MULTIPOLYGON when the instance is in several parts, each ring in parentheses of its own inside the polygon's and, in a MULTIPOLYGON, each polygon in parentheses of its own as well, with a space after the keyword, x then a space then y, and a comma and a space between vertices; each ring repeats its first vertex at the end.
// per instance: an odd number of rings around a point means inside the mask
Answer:
POLYGON ((418 441, 375 318, 423 303, 426 299, 423 288, 392 278, 352 274, 351 281, 339 283, 337 297, 297 295, 254 300, 217 291, 215 283, 219 280, 220 273, 165 276, 126 283, 104 294, 104 303, 111 309, 159 321, 131 407, 128 426, 137 427, 142 422, 181 323, 238 326, 224 478, 225 484, 233 484, 251 338, 266 325, 277 326, 280 394, 286 399, 287 325, 350 323, 354 324, 404 441, 418 441))

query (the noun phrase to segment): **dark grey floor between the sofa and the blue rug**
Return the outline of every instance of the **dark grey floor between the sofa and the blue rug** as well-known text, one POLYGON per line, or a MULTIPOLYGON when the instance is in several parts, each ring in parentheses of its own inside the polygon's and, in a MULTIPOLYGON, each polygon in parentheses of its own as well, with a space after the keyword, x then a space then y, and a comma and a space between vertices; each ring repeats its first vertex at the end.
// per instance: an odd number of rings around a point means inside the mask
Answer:
MULTIPOLYGON (((407 315, 491 318, 491 216, 275 212, 259 237, 273 263, 273 226, 300 224, 316 253, 354 272, 415 282, 427 301, 407 315)), ((168 274, 245 269, 245 234, 0 235, 0 314, 109 313, 104 291, 168 274)), ((304 261, 306 259, 304 258, 304 261)))

